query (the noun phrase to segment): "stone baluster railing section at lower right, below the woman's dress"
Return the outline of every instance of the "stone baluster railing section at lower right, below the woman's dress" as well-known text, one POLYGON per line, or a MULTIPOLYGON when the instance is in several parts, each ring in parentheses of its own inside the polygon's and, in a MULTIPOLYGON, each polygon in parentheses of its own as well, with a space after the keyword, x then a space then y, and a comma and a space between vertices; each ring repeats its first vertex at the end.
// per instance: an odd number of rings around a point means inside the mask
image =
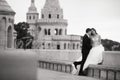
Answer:
POLYGON ((87 76, 101 80, 120 80, 120 68, 108 65, 89 65, 87 76))

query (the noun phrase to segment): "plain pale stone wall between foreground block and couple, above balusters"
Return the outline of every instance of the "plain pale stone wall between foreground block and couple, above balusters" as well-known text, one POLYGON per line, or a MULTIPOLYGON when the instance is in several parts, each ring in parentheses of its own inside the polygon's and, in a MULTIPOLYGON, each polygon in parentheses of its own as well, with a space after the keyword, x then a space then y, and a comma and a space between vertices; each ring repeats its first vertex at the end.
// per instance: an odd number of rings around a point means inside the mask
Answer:
POLYGON ((74 61, 81 56, 81 50, 39 50, 34 49, 39 59, 74 61))

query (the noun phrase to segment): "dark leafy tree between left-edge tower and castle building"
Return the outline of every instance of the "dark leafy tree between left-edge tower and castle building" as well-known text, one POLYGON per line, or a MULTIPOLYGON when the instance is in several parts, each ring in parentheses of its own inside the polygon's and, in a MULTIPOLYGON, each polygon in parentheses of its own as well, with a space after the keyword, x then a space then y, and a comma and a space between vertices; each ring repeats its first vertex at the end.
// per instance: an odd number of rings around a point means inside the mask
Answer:
POLYGON ((19 22, 18 24, 14 25, 14 29, 17 32, 17 48, 31 49, 33 37, 28 32, 29 24, 26 22, 19 22))

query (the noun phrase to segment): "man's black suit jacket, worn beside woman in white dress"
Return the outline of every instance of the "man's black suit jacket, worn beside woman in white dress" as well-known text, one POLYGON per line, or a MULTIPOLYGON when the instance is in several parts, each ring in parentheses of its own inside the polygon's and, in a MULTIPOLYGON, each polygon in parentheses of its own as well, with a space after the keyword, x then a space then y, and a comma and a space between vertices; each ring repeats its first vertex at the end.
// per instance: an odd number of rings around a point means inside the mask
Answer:
POLYGON ((83 43, 82 43, 82 54, 88 54, 90 49, 92 48, 91 46, 91 39, 85 34, 83 36, 83 43))

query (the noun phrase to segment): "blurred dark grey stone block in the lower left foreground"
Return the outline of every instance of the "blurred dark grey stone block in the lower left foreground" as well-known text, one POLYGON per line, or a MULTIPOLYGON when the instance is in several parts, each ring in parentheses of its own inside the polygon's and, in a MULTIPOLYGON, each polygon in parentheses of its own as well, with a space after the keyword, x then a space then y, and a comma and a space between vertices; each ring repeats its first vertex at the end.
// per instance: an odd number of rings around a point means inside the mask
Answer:
POLYGON ((0 50, 0 80, 36 80, 37 64, 30 50, 0 50))

